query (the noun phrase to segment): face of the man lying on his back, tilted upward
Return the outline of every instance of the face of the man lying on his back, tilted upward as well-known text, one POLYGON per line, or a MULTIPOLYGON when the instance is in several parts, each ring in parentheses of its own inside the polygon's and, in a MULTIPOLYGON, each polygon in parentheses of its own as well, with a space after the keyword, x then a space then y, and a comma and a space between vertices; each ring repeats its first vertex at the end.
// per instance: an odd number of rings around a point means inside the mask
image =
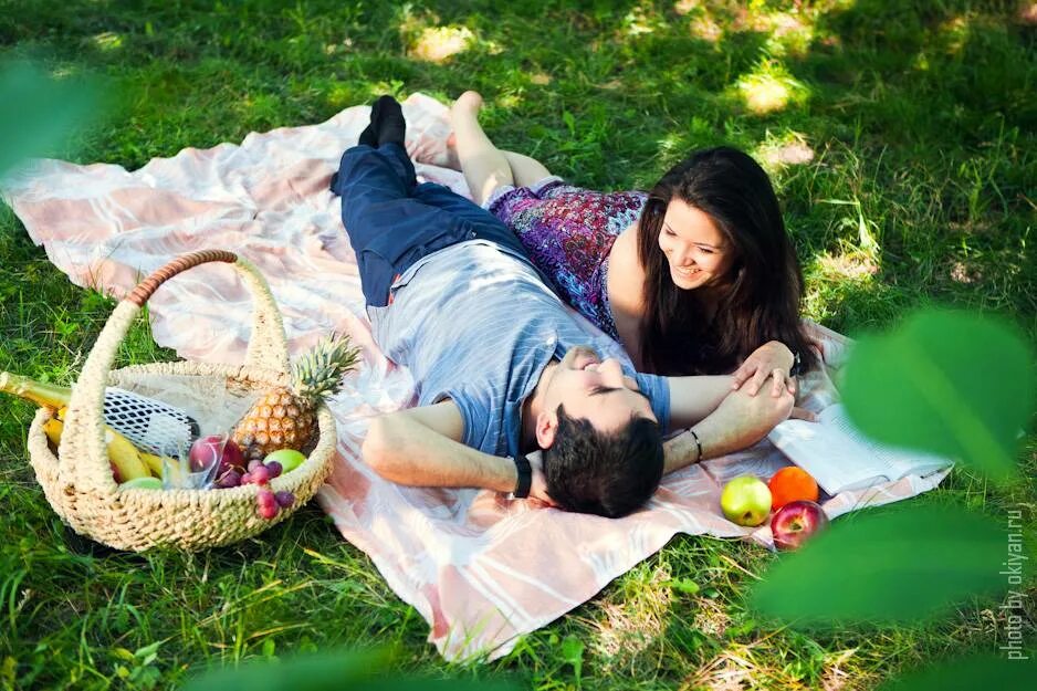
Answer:
POLYGON ((572 348, 555 368, 544 391, 544 412, 537 420, 537 439, 547 448, 554 440, 541 436, 548 423, 557 423, 555 412, 562 406, 570 418, 589 420, 603 432, 617 430, 632 417, 657 421, 648 398, 638 390, 637 381, 624 375, 619 360, 601 360, 590 348, 572 348), (547 441, 548 443, 545 443, 547 441))

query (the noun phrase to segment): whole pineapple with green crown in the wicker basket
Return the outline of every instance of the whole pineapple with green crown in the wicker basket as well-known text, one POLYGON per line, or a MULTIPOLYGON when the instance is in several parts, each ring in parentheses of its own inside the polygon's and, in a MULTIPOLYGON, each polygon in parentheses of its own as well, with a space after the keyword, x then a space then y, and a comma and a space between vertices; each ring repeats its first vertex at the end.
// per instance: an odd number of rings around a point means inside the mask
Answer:
POLYGON ((300 358, 292 366, 294 388, 266 391, 234 427, 245 461, 263 460, 279 449, 304 449, 316 433, 317 405, 338 391, 357 355, 348 338, 332 334, 300 358))

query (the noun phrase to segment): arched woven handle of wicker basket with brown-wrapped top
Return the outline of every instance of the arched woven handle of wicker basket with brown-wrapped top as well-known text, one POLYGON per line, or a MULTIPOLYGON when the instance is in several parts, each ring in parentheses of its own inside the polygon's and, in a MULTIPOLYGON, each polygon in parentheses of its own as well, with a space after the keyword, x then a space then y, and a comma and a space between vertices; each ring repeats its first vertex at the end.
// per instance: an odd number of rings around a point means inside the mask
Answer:
POLYGON ((64 491, 115 491, 115 480, 107 462, 103 410, 104 389, 118 346, 126 337, 134 318, 159 285, 178 273, 208 262, 232 264, 252 293, 252 335, 245 353, 244 367, 291 377, 287 339, 281 312, 270 286, 252 262, 223 250, 201 250, 178 256, 142 281, 115 306, 86 357, 80 378, 72 388, 57 453, 59 477, 64 491))

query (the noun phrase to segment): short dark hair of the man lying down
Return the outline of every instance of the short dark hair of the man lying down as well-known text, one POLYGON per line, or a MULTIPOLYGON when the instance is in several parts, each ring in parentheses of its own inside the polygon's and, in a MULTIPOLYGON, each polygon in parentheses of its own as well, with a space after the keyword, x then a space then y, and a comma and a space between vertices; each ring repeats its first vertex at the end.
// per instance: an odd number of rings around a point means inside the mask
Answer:
POLYGON ((547 494, 563 509, 609 519, 639 509, 662 478, 662 433, 648 418, 632 417, 612 432, 570 418, 558 406, 558 430, 544 449, 547 494))

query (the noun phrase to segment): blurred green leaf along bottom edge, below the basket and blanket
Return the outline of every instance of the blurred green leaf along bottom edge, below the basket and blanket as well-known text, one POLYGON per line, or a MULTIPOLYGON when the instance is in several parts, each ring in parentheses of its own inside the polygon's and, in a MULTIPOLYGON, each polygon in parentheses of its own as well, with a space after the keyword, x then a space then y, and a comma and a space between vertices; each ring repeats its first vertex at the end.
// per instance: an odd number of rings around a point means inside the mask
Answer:
POLYGON ((181 691, 517 691, 496 681, 427 679, 386 673, 392 655, 384 649, 339 650, 282 659, 252 661, 237 669, 206 672, 181 691))

